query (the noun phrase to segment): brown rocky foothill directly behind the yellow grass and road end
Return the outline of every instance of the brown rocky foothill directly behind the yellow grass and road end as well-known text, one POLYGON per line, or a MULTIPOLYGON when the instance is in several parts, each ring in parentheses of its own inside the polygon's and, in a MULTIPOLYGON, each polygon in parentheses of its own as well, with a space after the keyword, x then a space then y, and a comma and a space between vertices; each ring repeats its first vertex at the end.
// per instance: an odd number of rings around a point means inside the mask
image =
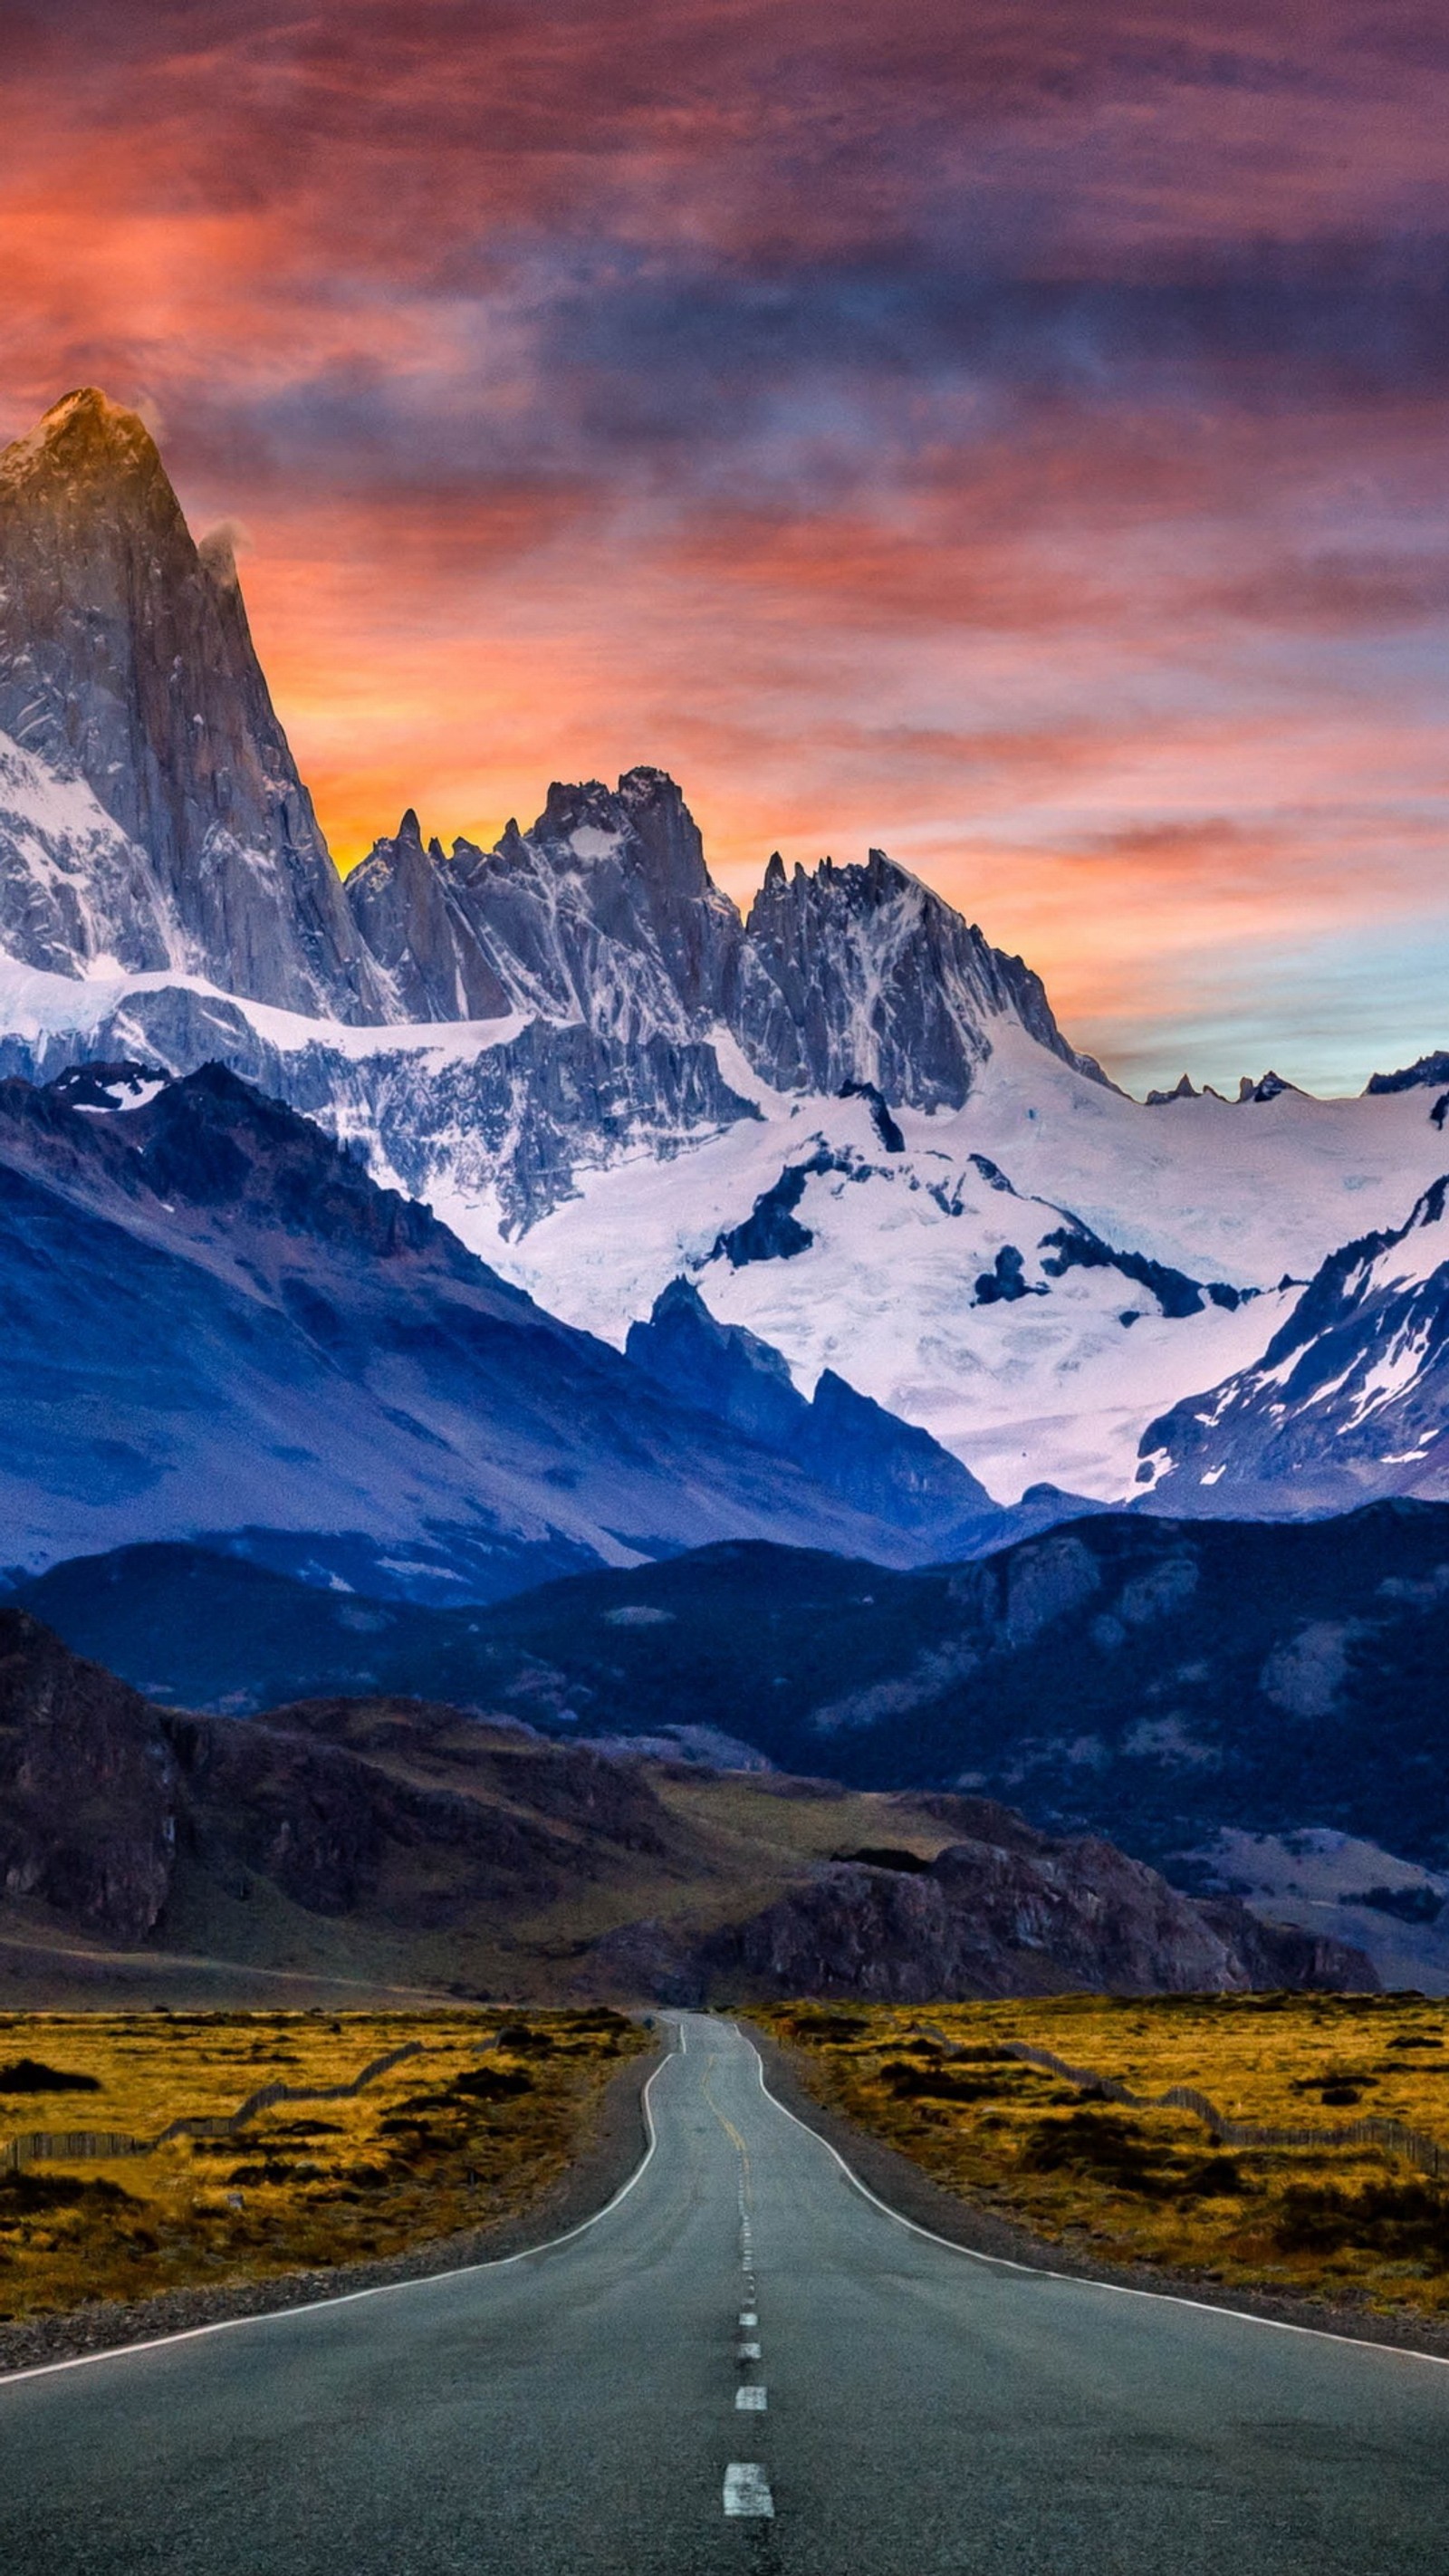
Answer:
POLYGON ((1372 1984, 970 1798, 607 1759, 420 1700, 157 1710, 0 1610, 0 1947, 180 1991, 206 1960, 507 1994, 1372 1984), (106 1945, 129 1945, 106 1958, 106 1945))

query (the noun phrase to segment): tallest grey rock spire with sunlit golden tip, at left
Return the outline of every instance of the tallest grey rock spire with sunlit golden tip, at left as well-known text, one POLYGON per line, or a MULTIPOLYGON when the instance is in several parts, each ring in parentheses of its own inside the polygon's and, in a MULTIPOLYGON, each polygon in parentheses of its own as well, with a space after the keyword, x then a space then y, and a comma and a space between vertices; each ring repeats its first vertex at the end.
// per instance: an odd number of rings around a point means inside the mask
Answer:
POLYGON ((103 871, 77 858, 69 961, 44 876, 31 925, 5 909, 10 953, 62 974, 98 956, 185 966, 288 1010, 381 1015, 232 549, 193 544, 144 422, 93 389, 0 456, 0 734, 59 788, 85 783, 121 835, 103 871))

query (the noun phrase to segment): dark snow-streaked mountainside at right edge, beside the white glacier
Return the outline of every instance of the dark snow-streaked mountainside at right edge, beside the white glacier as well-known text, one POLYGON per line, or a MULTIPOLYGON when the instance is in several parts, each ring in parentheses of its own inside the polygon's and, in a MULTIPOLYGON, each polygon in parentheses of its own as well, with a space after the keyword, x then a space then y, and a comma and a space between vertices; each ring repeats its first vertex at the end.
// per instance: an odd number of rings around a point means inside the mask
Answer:
MULTIPOLYGON (((1444 1157, 1449 1162, 1449 1157, 1444 1157)), ((1143 1437, 1168 1512, 1343 1512, 1449 1497, 1449 1177, 1323 1262, 1261 1360, 1143 1437)))

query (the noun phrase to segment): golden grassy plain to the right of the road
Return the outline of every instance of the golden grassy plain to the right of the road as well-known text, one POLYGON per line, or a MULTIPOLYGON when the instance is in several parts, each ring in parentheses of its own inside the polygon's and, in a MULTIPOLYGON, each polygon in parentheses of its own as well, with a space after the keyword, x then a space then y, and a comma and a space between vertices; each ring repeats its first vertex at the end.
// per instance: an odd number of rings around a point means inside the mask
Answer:
POLYGON ((1004 2056, 1004 2043, 1027 2043, 1140 2094, 1189 2084, 1230 2120, 1266 2128, 1380 2115, 1449 2151, 1441 2002, 1068 1994, 793 2004, 757 2020, 790 2043, 821 2102, 1050 2244, 1104 2264, 1449 2313, 1449 2154, 1436 2182, 1377 2146, 1220 2148, 1184 2110, 1094 2102, 1004 2056))

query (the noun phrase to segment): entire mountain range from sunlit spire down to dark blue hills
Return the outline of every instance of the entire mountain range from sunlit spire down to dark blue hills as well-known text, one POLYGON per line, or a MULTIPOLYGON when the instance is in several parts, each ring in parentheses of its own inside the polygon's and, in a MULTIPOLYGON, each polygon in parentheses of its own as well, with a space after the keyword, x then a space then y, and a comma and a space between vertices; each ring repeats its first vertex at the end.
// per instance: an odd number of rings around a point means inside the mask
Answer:
POLYGON ((1022 1798, 1217 1893, 1351 1847, 1428 1940, 1446 1118, 1449 1054, 1130 1100, 880 850, 741 914, 649 765, 342 876, 142 420, 0 456, 5 1574, 157 1703, 1022 1798))

